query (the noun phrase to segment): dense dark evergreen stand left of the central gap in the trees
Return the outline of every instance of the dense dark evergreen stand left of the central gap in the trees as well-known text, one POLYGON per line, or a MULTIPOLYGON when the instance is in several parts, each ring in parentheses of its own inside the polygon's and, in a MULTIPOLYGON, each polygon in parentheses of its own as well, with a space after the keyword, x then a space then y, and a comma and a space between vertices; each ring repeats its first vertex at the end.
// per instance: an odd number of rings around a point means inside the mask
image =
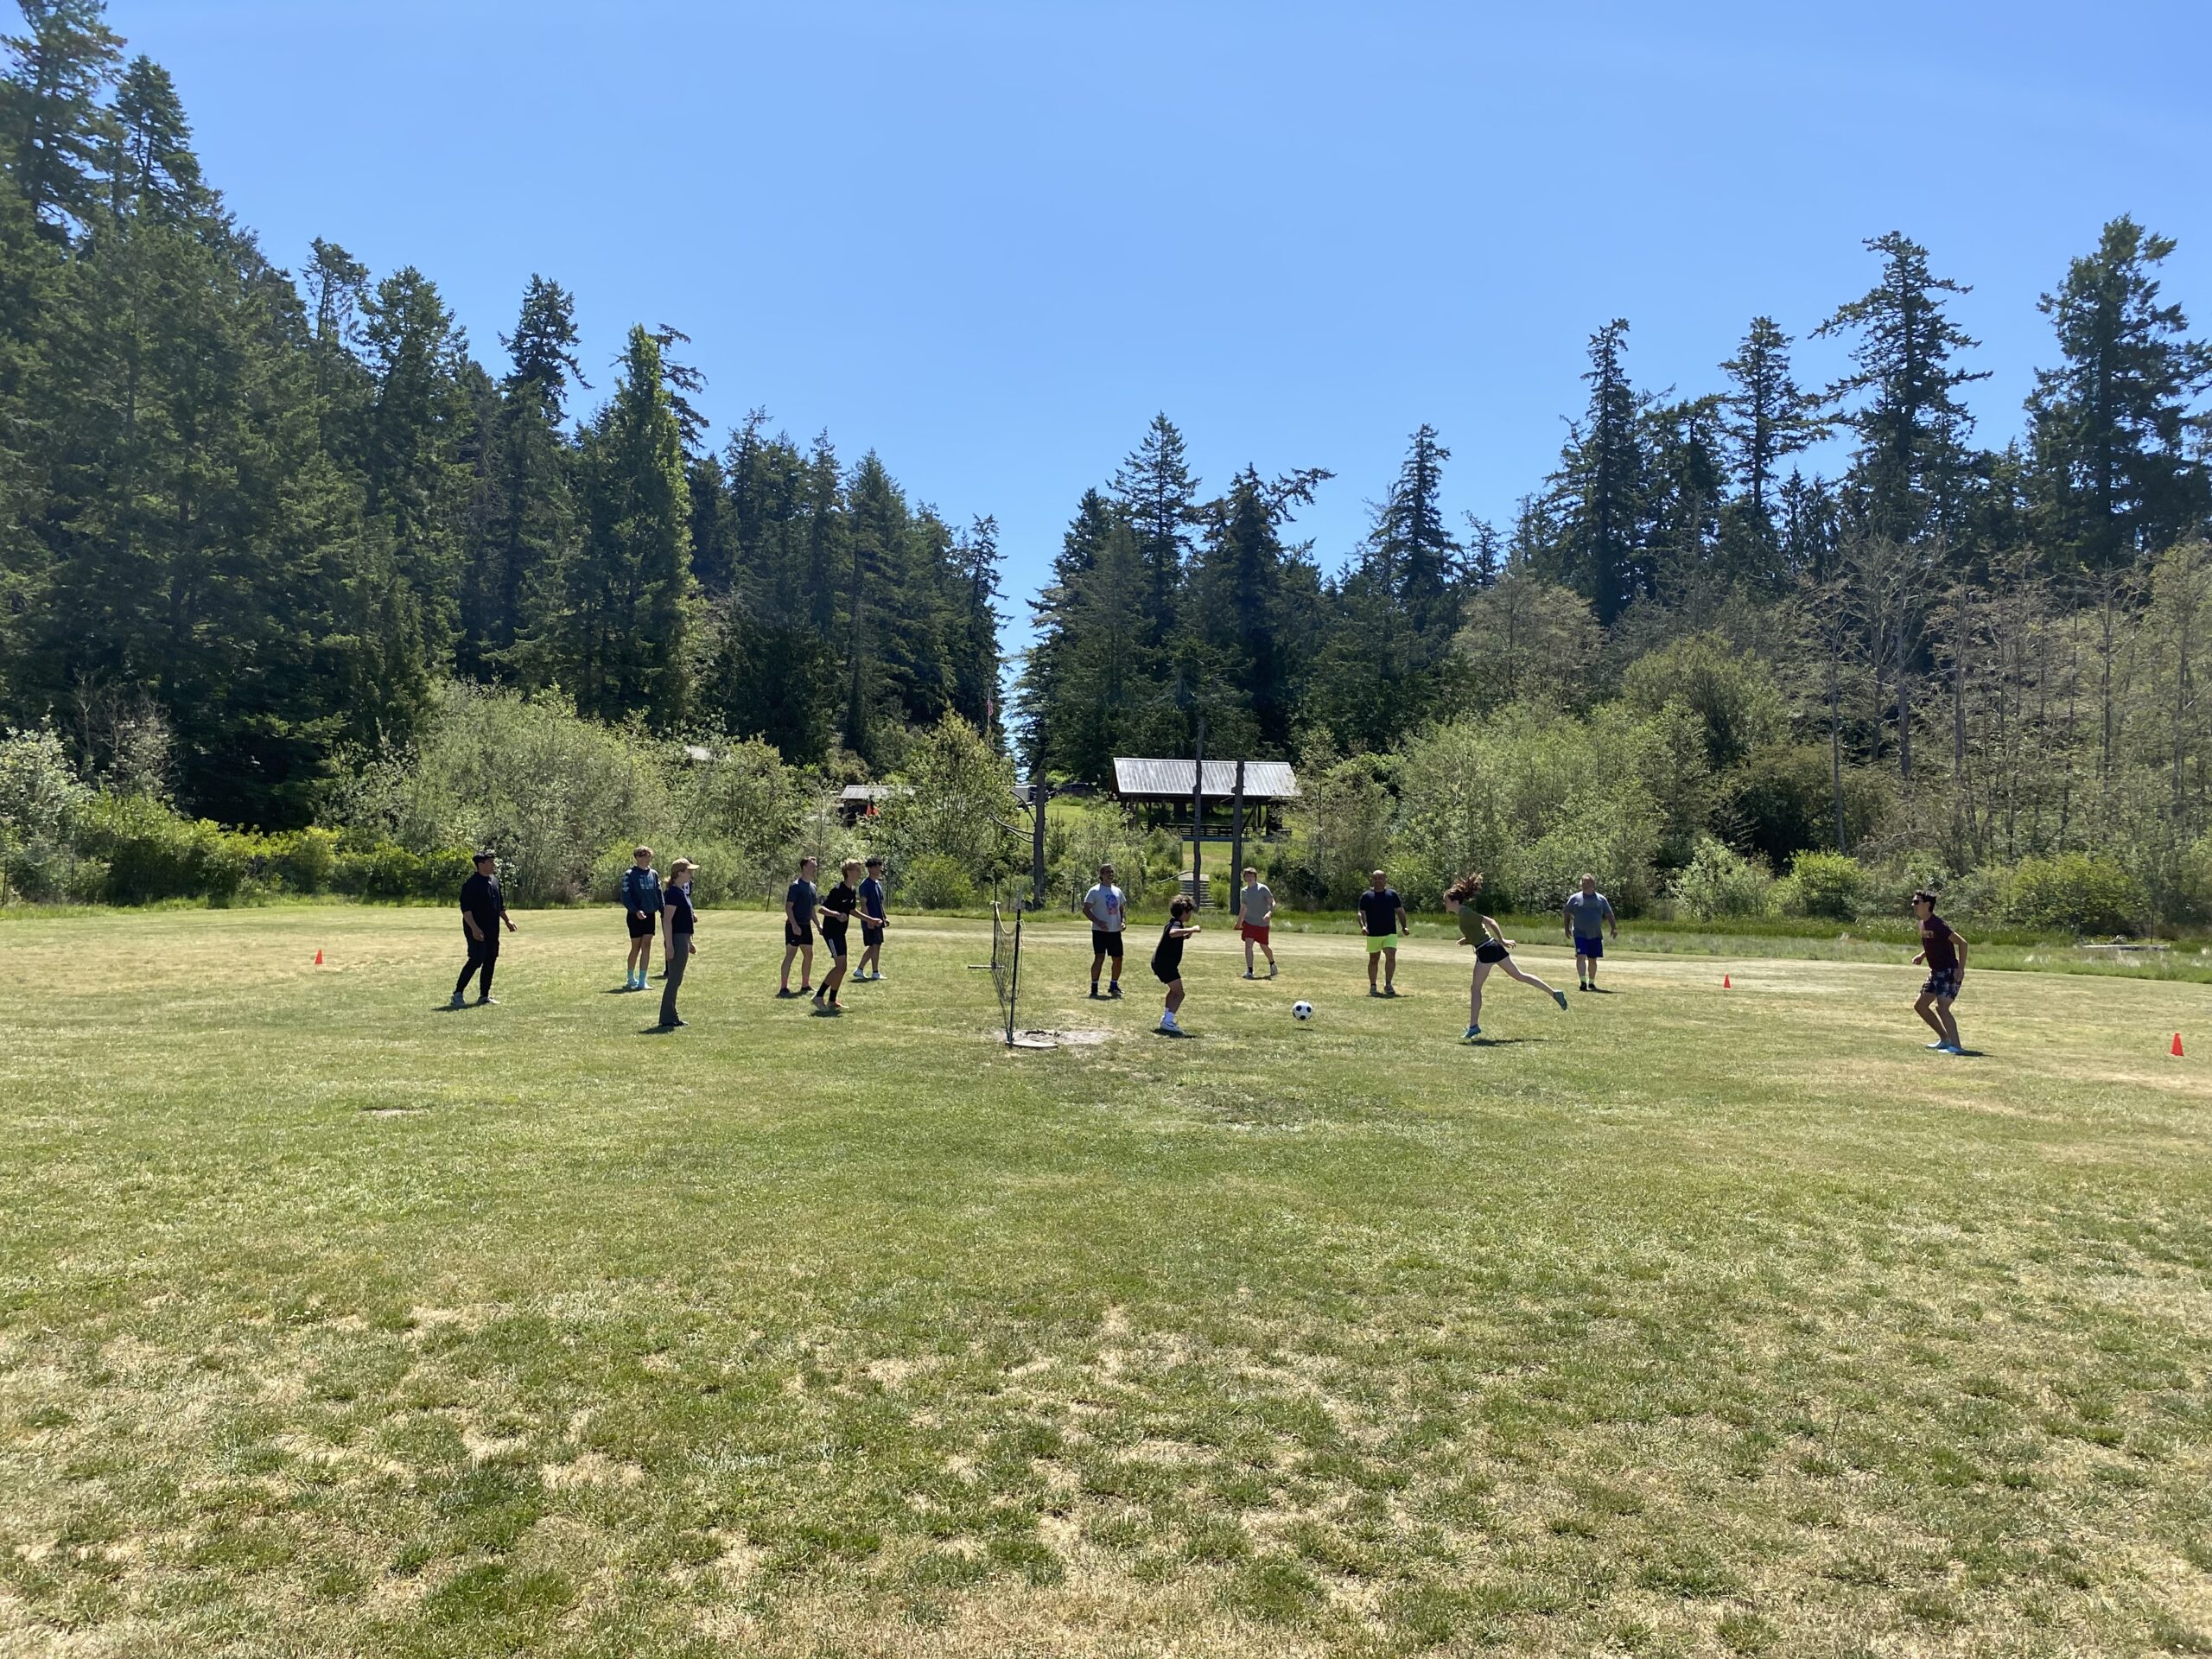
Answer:
POLYGON ((316 239, 272 263, 168 73, 102 0, 20 0, 0 77, 0 726, 95 779, 296 827, 445 677, 670 734, 841 745, 998 723, 998 526, 752 411, 719 447, 686 336, 604 400, 533 276, 504 372, 438 285, 316 239))

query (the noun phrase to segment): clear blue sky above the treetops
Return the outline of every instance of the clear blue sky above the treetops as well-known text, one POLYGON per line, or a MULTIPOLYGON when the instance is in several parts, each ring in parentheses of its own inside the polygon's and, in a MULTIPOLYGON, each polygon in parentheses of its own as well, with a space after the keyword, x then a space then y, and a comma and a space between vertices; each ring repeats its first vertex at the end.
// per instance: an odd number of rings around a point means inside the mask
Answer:
MULTIPOLYGON (((1166 409, 1210 482, 1329 467, 1338 564, 1407 434, 1500 522, 1590 330, 1710 389, 1905 230, 1973 283, 1982 431, 2051 358, 2035 296, 2132 212, 2212 325, 2212 7, 675 4, 111 0, 279 263, 416 263, 502 365, 531 272, 586 367, 695 341, 719 425, 883 453, 995 513, 1020 626, 1075 498, 1166 409)), ((1838 347, 1807 343, 1801 378, 1838 347)), ((719 440, 719 438, 717 438, 719 440)))

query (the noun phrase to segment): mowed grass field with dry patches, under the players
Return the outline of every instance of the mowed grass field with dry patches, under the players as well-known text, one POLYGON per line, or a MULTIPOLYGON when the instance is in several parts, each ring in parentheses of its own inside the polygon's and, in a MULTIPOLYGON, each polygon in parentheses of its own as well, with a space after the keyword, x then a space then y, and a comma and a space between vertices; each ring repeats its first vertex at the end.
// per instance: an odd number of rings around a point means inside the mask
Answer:
POLYGON ((520 922, 0 927, 0 1652, 2212 1648, 2201 987, 520 922))

